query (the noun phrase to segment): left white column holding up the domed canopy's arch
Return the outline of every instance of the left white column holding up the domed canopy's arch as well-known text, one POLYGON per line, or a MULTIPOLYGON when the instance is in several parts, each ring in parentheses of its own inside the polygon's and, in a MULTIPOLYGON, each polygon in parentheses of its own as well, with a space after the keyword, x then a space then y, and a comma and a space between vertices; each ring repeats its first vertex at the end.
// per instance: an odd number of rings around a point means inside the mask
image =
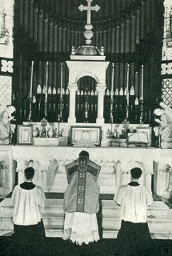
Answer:
POLYGON ((77 83, 69 83, 68 89, 70 91, 70 114, 68 118, 68 123, 75 123, 75 103, 76 103, 76 91, 78 90, 77 83))

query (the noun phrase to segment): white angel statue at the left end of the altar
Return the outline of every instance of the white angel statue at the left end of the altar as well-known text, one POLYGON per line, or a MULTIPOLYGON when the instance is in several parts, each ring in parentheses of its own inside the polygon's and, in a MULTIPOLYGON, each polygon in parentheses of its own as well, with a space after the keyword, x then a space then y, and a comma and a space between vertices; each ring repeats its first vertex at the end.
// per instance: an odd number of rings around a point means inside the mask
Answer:
POLYGON ((10 134, 14 133, 15 127, 10 126, 10 121, 14 119, 14 111, 14 106, 0 106, 0 145, 8 145, 10 134))

